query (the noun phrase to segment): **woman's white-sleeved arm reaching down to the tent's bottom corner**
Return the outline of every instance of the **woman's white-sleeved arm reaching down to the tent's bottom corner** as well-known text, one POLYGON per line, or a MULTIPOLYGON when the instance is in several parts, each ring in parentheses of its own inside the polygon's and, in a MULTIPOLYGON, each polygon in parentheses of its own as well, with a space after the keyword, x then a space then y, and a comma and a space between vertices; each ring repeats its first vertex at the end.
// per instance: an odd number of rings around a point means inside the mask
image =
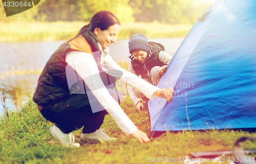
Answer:
POLYGON ((106 90, 105 87, 102 88, 104 85, 102 80, 99 80, 101 79, 99 76, 99 70, 91 54, 80 51, 71 51, 66 56, 66 62, 84 80, 84 83, 86 83, 89 89, 92 90, 93 95, 105 110, 114 118, 117 125, 125 134, 132 134, 137 131, 137 127, 125 115, 122 108, 110 95, 108 90, 106 90))

